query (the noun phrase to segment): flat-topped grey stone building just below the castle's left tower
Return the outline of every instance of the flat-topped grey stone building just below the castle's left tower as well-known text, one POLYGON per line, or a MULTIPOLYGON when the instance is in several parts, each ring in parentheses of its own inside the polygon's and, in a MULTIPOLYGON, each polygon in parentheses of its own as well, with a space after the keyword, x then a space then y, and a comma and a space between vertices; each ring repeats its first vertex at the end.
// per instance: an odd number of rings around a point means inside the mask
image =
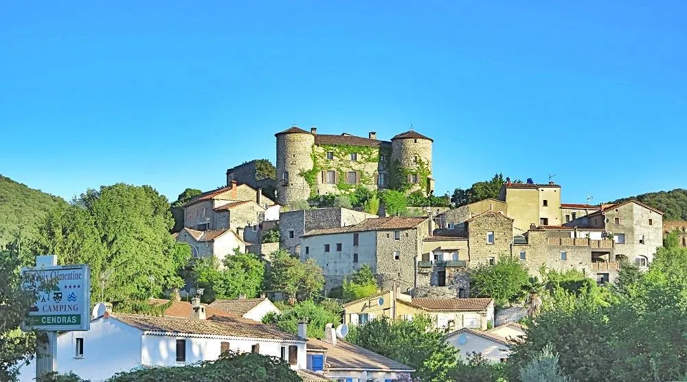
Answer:
POLYGON ((366 218, 376 217, 379 216, 340 207, 282 212, 279 218, 280 247, 288 249, 291 254, 300 254, 301 236, 306 232, 356 225, 366 218))

